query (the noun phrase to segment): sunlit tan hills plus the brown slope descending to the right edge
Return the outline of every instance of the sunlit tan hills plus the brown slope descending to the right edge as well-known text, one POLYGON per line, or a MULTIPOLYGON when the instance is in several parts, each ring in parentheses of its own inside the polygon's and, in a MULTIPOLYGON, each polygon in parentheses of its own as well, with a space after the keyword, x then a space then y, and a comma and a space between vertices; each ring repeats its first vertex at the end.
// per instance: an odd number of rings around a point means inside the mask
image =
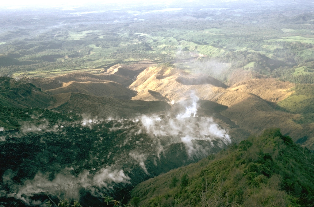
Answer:
POLYGON ((147 68, 130 85, 130 88, 138 92, 133 99, 158 100, 163 97, 170 103, 188 98, 192 94, 227 106, 228 109, 221 114, 251 133, 261 133, 266 128, 278 127, 300 143, 303 143, 302 137, 314 135, 311 124, 305 125, 296 121, 302 115, 276 106, 293 94, 295 84, 275 79, 252 79, 227 88, 217 80, 194 81, 193 85, 187 85, 179 81, 182 79, 203 80, 204 76, 187 74, 171 66, 147 68), (153 96, 154 93, 160 96, 153 96))

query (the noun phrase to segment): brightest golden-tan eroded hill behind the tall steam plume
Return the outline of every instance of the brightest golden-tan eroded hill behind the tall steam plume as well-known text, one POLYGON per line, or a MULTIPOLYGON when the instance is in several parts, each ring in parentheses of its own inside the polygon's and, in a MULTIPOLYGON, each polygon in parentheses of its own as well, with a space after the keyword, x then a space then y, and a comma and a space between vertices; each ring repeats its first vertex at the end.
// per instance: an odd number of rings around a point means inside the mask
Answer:
POLYGON ((179 101, 189 98, 191 94, 200 99, 207 99, 213 88, 225 89, 225 84, 212 77, 191 75, 183 70, 168 65, 150 67, 140 73, 129 88, 138 92, 133 100, 155 100, 151 94, 160 93, 166 100, 179 101))

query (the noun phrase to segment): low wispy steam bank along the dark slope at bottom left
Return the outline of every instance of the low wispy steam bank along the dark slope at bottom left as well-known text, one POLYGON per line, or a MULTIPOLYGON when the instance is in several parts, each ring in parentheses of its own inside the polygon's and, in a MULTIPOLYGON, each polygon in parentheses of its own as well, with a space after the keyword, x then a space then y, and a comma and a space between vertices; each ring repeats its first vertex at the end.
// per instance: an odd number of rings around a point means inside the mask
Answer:
POLYGON ((71 175, 69 170, 71 169, 65 169, 62 173, 57 174, 53 180, 49 180, 49 174, 38 172, 34 179, 26 180, 22 185, 15 184, 12 181, 15 173, 12 170, 7 170, 3 175, 3 184, 10 187, 11 193, 7 194, 8 197, 15 197, 28 205, 33 205, 36 201, 31 200, 30 197, 36 193, 78 199, 81 188, 90 190, 93 195, 97 196, 102 194, 99 193, 98 188, 109 190, 113 188, 115 183, 129 183, 130 180, 130 177, 126 176, 123 170, 113 169, 112 166, 102 168, 93 175, 84 170, 76 177, 71 175))

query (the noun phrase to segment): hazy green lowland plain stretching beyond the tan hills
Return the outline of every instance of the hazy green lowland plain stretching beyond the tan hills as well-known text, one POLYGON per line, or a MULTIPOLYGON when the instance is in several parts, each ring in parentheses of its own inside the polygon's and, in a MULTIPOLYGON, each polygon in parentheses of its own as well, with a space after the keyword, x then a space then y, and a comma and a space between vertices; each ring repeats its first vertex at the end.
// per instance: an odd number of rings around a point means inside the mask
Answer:
MULTIPOLYGON (((243 8, 240 4, 232 6, 243 8)), ((272 8, 270 4, 263 7, 266 11, 272 8)), ((104 11, 101 17, 97 13, 79 17, 62 14, 73 25, 58 25, 55 30, 46 29, 50 16, 44 15, 39 20, 43 26, 35 29, 37 36, 18 27, 0 35, 0 76, 99 73, 100 68, 115 63, 151 61, 171 62, 225 83, 238 69, 251 71, 252 77, 314 83, 313 68, 308 66, 314 58, 311 16, 304 17, 304 13, 287 5, 280 8, 294 18, 278 11, 276 15, 251 15, 248 21, 244 18, 246 11, 233 15, 239 11, 222 9, 216 15, 215 10, 199 12, 198 5, 194 5, 167 15, 161 12, 158 17, 154 12, 138 13, 135 19, 127 11, 104 11), (300 24, 301 20, 306 23, 300 24)), ((4 18, 14 21, 19 17, 4 18)), ((32 22, 25 24, 30 30, 34 27, 32 22)))

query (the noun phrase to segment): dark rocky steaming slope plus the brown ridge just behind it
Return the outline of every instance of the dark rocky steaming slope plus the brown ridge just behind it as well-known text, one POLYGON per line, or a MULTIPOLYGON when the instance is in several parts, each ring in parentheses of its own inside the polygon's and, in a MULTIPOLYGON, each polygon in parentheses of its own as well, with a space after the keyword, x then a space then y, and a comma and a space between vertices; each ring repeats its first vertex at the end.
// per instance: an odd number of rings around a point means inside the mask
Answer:
POLYGON ((241 132, 219 120, 225 106, 196 98, 172 108, 80 93, 55 98, 64 103, 27 111, 19 129, 0 131, 0 205, 42 206, 47 195, 57 202, 59 185, 75 183, 59 192, 103 206, 103 195, 122 199, 139 182, 219 152, 235 141, 230 131, 241 132))

